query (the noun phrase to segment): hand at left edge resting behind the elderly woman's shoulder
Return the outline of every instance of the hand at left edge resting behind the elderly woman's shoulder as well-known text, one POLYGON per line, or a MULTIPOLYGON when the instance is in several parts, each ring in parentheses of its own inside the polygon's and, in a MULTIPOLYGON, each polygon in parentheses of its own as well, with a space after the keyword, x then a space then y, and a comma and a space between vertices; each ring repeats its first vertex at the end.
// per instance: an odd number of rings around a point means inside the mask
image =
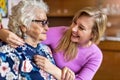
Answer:
POLYGON ((16 34, 10 32, 7 29, 0 30, 0 39, 8 43, 11 47, 18 47, 20 45, 24 45, 24 41, 18 37, 16 34))

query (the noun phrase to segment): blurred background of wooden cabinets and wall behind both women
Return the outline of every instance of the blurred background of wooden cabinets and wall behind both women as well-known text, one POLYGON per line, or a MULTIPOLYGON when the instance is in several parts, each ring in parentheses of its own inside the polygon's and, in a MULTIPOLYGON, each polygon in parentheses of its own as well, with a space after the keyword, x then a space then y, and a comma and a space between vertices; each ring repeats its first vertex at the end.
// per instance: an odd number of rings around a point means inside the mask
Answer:
MULTIPOLYGON (((7 28, 11 7, 20 0, 0 0, 2 24, 7 28)), ((44 0, 49 5, 49 26, 69 26, 73 15, 81 8, 101 8, 108 16, 105 35, 98 45, 103 62, 93 80, 120 80, 120 0, 44 0)))

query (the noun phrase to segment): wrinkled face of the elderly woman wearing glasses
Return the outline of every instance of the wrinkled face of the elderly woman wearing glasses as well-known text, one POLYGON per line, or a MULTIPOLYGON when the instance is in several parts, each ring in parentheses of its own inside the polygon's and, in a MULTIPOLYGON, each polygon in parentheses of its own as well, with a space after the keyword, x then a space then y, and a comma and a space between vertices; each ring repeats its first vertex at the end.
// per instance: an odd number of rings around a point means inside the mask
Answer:
POLYGON ((32 20, 31 27, 27 31, 28 35, 31 36, 34 40, 43 41, 46 40, 48 31, 48 22, 46 13, 43 10, 36 10, 36 17, 32 20))

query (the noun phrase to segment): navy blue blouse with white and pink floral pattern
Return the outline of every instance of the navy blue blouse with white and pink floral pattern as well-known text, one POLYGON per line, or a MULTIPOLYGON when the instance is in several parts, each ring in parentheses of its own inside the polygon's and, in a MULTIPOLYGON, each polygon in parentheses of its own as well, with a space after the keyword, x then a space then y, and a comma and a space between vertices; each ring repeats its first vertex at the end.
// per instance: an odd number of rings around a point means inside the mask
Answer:
POLYGON ((0 42, 0 80, 55 80, 34 63, 36 54, 55 64, 51 50, 44 44, 38 44, 36 48, 25 44, 14 49, 0 42))

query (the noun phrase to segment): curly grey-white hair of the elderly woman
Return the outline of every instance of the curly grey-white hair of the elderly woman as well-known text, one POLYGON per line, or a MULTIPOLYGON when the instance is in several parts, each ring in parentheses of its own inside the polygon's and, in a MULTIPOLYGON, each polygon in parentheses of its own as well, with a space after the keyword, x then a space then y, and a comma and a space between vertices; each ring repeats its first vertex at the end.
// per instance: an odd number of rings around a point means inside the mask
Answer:
POLYGON ((21 0, 17 5, 12 7, 12 13, 9 16, 8 27, 10 31, 22 37, 20 26, 30 27, 31 21, 35 18, 35 10, 41 9, 46 13, 48 6, 43 0, 21 0))

